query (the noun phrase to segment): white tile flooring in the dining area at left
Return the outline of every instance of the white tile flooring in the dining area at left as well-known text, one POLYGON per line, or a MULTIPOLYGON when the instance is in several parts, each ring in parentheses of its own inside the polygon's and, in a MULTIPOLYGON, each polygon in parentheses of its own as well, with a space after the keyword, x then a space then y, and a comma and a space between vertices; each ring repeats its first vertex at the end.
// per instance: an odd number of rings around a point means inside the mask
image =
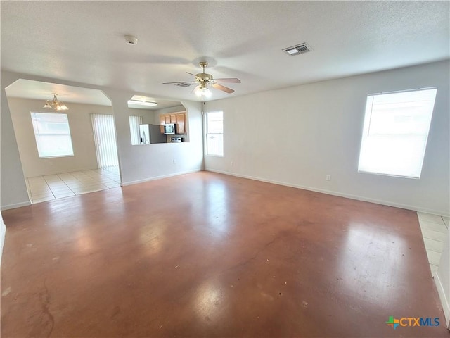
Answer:
POLYGON ((25 180, 32 203, 120 187, 118 167, 29 177, 25 180))

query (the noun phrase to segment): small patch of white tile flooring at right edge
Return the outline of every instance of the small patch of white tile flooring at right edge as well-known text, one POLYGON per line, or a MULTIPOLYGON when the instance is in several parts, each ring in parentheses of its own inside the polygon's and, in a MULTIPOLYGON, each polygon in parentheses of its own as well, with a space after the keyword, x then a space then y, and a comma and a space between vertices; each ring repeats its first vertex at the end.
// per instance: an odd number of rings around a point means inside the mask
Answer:
POLYGON ((450 218, 430 213, 417 213, 423 242, 427 250, 428 263, 434 276, 441 259, 444 241, 449 231, 450 218))

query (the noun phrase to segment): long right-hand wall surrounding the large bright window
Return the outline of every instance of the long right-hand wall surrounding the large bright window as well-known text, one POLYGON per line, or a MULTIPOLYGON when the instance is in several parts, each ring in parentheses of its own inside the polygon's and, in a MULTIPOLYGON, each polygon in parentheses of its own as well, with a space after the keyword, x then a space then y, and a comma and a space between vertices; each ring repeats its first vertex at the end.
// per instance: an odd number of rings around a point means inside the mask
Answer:
POLYGON ((225 146, 205 169, 449 215, 449 82, 442 61, 207 102, 224 111, 225 146), (358 173, 366 96, 434 86, 420 180, 358 173))

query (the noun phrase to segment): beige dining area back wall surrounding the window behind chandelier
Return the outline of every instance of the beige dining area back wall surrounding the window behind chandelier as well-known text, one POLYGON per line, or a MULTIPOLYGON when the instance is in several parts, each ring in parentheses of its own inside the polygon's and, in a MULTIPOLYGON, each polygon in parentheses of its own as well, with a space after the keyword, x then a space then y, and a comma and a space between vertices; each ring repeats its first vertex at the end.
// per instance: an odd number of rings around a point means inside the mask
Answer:
POLYGON ((42 109, 43 101, 8 97, 15 137, 25 177, 96 169, 96 146, 92 133, 91 113, 113 114, 110 106, 66 102, 74 156, 39 158, 30 112, 51 113, 42 109))

